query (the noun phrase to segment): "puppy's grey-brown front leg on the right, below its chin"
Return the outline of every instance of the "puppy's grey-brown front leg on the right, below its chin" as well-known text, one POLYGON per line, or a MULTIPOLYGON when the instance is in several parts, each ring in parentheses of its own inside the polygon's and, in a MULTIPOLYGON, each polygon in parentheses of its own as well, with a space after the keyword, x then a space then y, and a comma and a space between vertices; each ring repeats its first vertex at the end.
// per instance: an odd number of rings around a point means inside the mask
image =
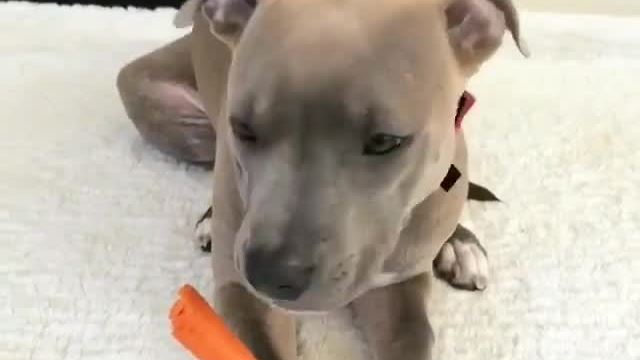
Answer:
POLYGON ((351 304, 376 360, 431 359, 434 334, 425 297, 429 276, 372 290, 351 304))

